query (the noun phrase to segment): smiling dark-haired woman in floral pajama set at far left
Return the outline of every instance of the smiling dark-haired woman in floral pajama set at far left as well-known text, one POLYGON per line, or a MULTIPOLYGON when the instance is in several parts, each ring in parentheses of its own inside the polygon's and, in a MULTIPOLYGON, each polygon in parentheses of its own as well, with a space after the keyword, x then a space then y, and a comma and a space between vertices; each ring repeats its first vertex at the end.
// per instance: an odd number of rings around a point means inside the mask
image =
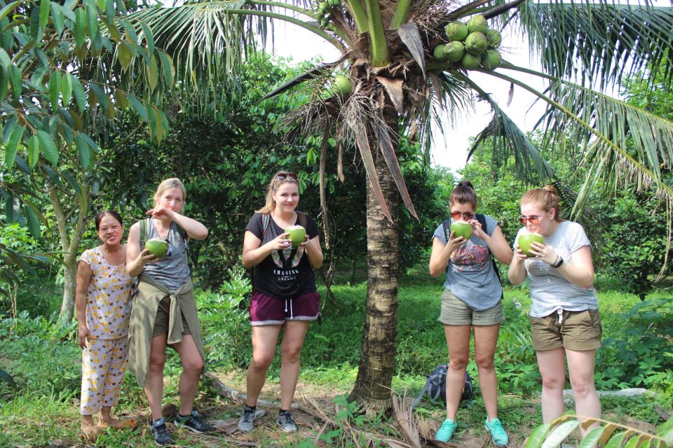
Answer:
POLYGON ((96 215, 100 246, 82 253, 77 268, 75 306, 78 337, 82 347, 82 431, 95 431, 93 414, 100 412, 99 426, 119 428, 128 421, 111 418, 119 399, 128 355, 128 318, 132 280, 126 272, 126 246, 121 244, 123 224, 116 211, 96 215))

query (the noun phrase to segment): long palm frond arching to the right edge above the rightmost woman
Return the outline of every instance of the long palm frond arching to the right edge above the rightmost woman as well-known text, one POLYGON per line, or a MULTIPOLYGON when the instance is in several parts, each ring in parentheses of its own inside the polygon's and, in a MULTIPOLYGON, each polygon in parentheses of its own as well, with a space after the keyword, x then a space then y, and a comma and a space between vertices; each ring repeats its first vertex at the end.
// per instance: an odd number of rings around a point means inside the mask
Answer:
POLYGON ((604 189, 620 185, 654 188, 671 207, 673 186, 665 183, 662 168, 670 171, 673 160, 672 122, 569 81, 555 80, 546 95, 510 76, 497 72, 491 76, 515 83, 547 102, 552 109, 545 116, 545 128, 552 134, 568 135, 571 146, 583 151, 588 174, 575 207, 581 208, 588 192, 599 183, 604 189))

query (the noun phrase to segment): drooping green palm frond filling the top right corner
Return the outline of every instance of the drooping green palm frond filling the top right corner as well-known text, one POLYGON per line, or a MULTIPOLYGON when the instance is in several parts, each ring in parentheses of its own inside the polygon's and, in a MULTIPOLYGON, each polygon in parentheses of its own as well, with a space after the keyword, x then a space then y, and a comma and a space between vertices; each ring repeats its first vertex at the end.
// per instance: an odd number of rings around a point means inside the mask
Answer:
POLYGON ((616 0, 548 3, 527 1, 519 6, 522 29, 531 52, 541 55, 543 71, 575 78, 601 90, 639 74, 648 63, 673 76, 673 8, 616 0), (661 64, 660 64, 661 63, 661 64))

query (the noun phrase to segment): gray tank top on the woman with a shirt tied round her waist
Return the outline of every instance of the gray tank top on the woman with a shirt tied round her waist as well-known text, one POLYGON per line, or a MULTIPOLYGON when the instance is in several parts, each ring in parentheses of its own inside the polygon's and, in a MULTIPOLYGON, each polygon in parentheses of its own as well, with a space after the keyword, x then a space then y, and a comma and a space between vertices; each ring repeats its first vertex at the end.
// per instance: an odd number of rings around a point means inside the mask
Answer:
MULTIPOLYGON (((149 218, 149 235, 147 239, 158 238, 154 228, 154 220, 149 218)), ((170 223, 168 230, 168 253, 156 263, 148 263, 142 272, 149 274, 168 290, 177 290, 189 279, 189 263, 187 262, 187 241, 180 235, 176 223, 170 223)), ((144 250, 145 242, 140 241, 140 251, 144 250)))

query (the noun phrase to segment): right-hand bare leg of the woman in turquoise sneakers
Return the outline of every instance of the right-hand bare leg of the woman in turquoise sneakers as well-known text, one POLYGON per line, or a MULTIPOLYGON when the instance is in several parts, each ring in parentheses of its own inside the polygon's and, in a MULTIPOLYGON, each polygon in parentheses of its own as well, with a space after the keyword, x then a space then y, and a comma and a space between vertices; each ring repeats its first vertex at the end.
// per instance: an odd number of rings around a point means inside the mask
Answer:
POLYGON ((498 416, 498 379, 494 356, 500 324, 474 325, 475 363, 479 369, 479 388, 482 391, 489 421, 498 416))

